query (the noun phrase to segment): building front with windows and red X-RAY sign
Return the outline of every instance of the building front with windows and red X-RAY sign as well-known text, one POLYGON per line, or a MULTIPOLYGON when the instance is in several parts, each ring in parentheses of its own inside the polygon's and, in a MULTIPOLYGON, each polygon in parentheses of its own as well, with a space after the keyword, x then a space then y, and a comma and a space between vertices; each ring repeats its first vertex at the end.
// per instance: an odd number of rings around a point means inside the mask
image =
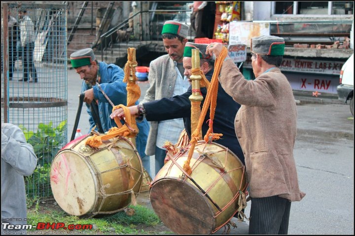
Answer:
MULTIPOLYGON (((253 1, 242 6, 242 19, 270 24, 270 35, 285 39, 280 68, 292 89, 337 94, 340 70, 354 53, 353 1, 253 1)), ((254 78, 249 57, 243 74, 254 78)))

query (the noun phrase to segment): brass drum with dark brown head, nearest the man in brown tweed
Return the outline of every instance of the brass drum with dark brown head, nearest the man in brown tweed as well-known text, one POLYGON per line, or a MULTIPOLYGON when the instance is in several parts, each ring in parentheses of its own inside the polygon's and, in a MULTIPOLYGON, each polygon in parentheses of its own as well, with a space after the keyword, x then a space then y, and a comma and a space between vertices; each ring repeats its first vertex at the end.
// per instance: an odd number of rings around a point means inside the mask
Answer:
POLYGON ((241 192, 247 191, 247 173, 228 148, 199 141, 190 161, 190 179, 182 169, 189 147, 178 152, 153 179, 150 202, 174 233, 212 234, 237 212, 241 192))

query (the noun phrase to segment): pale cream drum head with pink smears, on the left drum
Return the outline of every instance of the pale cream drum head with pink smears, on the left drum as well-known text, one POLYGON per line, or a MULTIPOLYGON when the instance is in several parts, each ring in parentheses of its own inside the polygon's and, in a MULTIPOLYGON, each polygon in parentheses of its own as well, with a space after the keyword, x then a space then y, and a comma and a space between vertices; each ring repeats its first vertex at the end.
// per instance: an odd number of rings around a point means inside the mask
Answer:
POLYGON ((64 150, 52 162, 50 183, 54 199, 68 214, 81 216, 96 202, 94 171, 79 154, 64 150))

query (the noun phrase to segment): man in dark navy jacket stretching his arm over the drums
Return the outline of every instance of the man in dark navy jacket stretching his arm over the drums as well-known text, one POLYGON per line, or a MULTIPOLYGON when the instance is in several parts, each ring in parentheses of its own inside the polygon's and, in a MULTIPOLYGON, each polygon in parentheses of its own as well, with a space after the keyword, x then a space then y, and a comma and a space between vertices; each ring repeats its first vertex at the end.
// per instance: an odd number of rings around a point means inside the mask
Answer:
MULTIPOLYGON (((192 75, 192 49, 199 49, 200 51, 200 70, 206 76, 206 79, 211 81, 214 72, 214 59, 207 56, 206 52, 207 44, 186 43, 183 54, 183 66, 184 75, 190 79, 192 75)), ((207 95, 207 89, 201 88, 201 94, 203 100, 201 102, 201 108, 207 95)), ((191 101, 189 96, 192 94, 192 87, 190 86, 187 92, 170 98, 162 98, 159 100, 140 104, 138 106, 129 107, 132 115, 144 115, 148 121, 161 121, 174 118, 183 118, 185 130, 191 138, 191 101)), ((244 154, 242 148, 239 145, 238 139, 234 132, 234 123, 231 117, 235 116, 240 108, 240 104, 233 101, 221 86, 218 86, 217 91, 217 106, 215 109, 213 119, 213 132, 222 133, 221 139, 214 141, 217 144, 223 145, 229 148, 244 164, 244 154)), ((210 110, 208 110, 205 120, 202 124, 202 134, 205 135, 209 129, 208 120, 210 119, 210 110)), ((110 115, 111 118, 123 117, 123 110, 117 109, 110 115)), ((193 131, 193 130, 192 130, 193 131)), ((179 137, 179 134, 177 134, 179 137)), ((175 144, 175 143, 173 143, 175 144)), ((164 156, 165 158, 165 156, 164 156)))

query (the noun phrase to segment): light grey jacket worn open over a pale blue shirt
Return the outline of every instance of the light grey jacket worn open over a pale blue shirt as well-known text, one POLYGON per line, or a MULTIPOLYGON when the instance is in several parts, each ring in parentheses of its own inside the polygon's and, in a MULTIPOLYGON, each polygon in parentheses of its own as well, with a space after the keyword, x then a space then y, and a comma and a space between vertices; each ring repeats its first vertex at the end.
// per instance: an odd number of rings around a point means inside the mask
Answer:
MULTIPOLYGON (((178 77, 175 67, 175 61, 171 59, 168 54, 150 62, 148 75, 150 88, 146 90, 145 96, 140 102, 141 104, 173 96, 175 82, 178 77)), ((154 155, 157 133, 158 121, 151 121, 145 147, 146 155, 154 155)))

